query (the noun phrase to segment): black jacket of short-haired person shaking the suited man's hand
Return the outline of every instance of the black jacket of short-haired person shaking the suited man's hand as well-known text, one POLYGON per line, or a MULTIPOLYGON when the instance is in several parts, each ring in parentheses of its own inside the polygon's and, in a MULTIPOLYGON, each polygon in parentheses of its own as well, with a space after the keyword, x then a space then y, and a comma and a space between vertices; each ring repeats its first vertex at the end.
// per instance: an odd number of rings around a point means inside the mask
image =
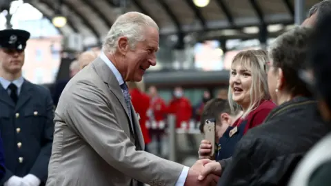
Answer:
POLYGON ((283 103, 237 143, 218 185, 286 185, 303 155, 329 131, 316 101, 297 97, 283 103))

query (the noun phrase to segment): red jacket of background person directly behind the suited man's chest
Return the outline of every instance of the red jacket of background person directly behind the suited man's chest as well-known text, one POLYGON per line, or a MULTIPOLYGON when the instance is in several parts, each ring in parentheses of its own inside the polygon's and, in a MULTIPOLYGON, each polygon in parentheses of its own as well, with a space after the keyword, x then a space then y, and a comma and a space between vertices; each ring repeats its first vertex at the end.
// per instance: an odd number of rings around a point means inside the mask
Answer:
POLYGON ((147 111, 150 105, 150 97, 143 92, 140 92, 137 88, 130 90, 131 101, 134 110, 138 112, 140 116, 139 124, 141 127, 141 132, 143 133, 143 140, 145 144, 150 143, 150 135, 146 128, 146 121, 148 120, 147 111))

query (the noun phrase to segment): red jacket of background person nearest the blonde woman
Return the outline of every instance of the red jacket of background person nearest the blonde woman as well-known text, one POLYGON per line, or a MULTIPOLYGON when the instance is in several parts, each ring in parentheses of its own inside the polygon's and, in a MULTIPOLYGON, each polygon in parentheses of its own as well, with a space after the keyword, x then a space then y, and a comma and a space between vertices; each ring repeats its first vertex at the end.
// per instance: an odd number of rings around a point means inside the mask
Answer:
POLYGON ((181 128, 186 123, 186 129, 189 127, 192 117, 192 105, 185 97, 174 98, 170 101, 168 112, 176 116, 176 127, 181 128))

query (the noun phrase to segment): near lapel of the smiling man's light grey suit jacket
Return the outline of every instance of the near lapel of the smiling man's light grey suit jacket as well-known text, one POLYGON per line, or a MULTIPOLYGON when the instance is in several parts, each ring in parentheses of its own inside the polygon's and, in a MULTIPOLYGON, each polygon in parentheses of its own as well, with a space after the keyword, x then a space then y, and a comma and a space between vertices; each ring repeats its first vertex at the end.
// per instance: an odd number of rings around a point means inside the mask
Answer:
MULTIPOLYGON (((124 99, 123 92, 121 90, 121 87, 119 86, 119 82, 117 81, 114 73, 112 73, 112 70, 110 70, 108 65, 106 65, 106 63, 103 62, 100 57, 94 60, 92 62, 92 65, 94 65, 94 68, 97 71, 97 74, 99 74, 99 76, 101 77, 102 81, 108 85, 109 90, 115 94, 117 99, 119 99, 119 102, 121 103, 123 110, 126 111, 126 116, 128 116, 128 119, 130 121, 128 107, 126 107, 126 100, 124 99)), ((133 132, 131 126, 130 128, 133 132)))

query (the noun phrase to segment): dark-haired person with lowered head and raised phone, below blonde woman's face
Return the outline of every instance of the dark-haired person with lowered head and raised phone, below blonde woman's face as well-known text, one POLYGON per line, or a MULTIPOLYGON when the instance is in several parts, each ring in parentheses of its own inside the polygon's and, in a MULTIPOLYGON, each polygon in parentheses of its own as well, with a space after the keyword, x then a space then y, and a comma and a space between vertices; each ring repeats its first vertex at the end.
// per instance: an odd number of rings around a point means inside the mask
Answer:
POLYGON ((215 159, 216 161, 220 161, 218 158, 219 149, 221 149, 221 145, 219 143, 220 138, 223 136, 225 131, 229 126, 232 126, 234 121, 243 114, 241 110, 236 110, 233 114, 231 112, 231 108, 228 100, 226 99, 212 99, 205 104, 203 108, 203 112, 201 113, 201 123, 199 125, 199 129, 202 134, 204 134, 203 127, 205 126, 205 121, 207 119, 215 119, 215 141, 218 141, 217 148, 215 148, 215 157, 210 157, 208 154, 211 152, 212 145, 210 141, 202 140, 199 147, 199 159, 215 159))

